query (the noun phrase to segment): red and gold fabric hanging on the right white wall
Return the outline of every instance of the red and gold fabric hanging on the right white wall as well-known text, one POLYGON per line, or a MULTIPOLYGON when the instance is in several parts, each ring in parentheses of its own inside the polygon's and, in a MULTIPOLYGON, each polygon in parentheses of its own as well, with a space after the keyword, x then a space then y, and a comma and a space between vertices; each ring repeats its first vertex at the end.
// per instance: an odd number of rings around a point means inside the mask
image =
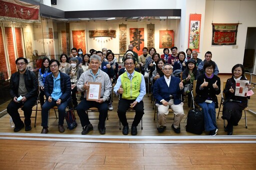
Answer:
POLYGON ((235 45, 238 23, 212 23, 212 45, 235 45))

